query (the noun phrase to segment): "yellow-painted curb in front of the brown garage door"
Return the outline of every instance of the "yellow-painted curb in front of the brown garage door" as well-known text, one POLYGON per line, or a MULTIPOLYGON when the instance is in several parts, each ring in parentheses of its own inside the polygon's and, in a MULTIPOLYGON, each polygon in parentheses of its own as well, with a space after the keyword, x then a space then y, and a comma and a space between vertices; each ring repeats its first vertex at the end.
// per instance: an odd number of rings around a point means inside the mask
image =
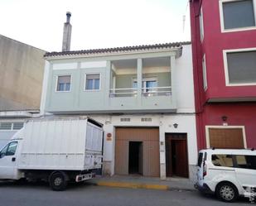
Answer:
POLYGON ((93 183, 97 186, 105 187, 117 187, 117 188, 129 188, 129 189, 157 189, 157 190, 181 190, 181 191, 195 191, 196 189, 169 187, 162 184, 141 184, 141 183, 128 183, 128 182, 110 182, 110 181, 98 181, 93 183))

